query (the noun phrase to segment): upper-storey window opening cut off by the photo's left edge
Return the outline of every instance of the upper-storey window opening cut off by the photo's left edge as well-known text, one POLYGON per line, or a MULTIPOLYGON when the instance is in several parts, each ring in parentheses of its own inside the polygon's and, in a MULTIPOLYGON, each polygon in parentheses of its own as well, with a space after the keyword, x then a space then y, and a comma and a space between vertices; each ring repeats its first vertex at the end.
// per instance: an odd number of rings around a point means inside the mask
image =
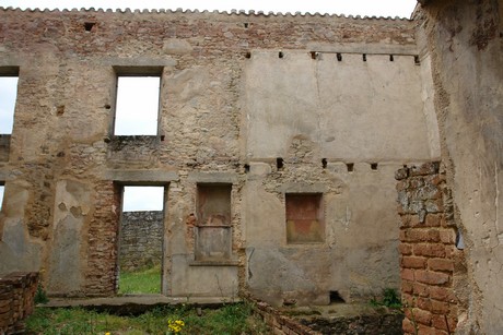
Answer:
POLYGON ((17 96, 16 68, 0 68, 0 134, 11 134, 17 96))

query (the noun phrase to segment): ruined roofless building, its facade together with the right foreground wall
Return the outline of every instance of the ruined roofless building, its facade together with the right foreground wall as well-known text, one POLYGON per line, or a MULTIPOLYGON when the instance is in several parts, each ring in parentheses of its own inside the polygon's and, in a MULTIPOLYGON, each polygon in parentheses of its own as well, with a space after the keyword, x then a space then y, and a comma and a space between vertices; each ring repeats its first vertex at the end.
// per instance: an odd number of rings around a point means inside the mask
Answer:
POLYGON ((0 76, 19 77, 0 274, 116 295, 122 190, 159 186, 163 295, 365 301, 408 276, 396 171, 440 161, 465 242, 442 254, 448 313, 502 331, 503 4, 420 2, 412 20, 0 9, 0 76), (154 134, 116 133, 124 76, 160 79, 154 134))

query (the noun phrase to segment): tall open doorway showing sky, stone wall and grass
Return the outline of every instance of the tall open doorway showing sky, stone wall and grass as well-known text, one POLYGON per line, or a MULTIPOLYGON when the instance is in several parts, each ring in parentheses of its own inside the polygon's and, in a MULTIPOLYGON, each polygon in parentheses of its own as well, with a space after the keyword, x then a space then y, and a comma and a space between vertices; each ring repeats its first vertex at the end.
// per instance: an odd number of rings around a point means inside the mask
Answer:
POLYGON ((164 187, 124 187, 118 294, 161 292, 164 193, 164 187))

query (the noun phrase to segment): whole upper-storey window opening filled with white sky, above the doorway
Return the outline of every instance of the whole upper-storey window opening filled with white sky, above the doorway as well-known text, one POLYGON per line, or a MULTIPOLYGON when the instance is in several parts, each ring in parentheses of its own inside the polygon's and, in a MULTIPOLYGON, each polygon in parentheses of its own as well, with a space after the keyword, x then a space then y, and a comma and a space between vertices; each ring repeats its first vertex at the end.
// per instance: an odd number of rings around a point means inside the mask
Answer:
POLYGON ((157 135, 162 70, 156 70, 117 72, 114 135, 157 135))

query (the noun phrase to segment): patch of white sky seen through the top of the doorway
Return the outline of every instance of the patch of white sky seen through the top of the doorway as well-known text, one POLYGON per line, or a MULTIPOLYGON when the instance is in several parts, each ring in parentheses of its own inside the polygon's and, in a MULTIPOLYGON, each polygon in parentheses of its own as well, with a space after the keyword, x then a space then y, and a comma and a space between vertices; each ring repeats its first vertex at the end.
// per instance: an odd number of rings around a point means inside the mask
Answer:
POLYGON ((125 187, 122 212, 162 211, 163 187, 125 187))

